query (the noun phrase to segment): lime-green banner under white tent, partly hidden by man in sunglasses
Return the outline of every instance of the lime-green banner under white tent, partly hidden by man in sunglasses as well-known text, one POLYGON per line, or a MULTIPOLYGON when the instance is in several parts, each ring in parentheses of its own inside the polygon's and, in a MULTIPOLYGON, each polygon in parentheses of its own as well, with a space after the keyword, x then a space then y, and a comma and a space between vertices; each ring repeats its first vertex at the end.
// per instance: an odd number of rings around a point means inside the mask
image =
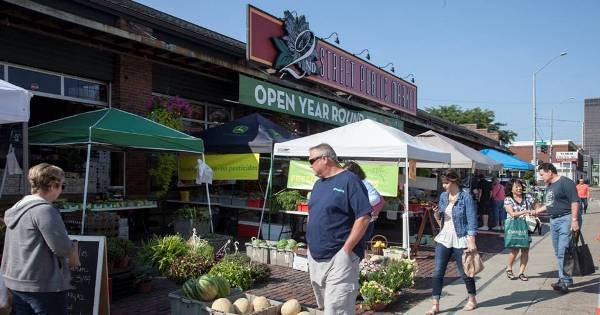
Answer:
MULTIPOLYGON (((382 196, 398 195, 398 165, 396 163, 357 161, 367 176, 367 181, 382 196)), ((307 161, 290 161, 287 188, 312 190, 317 177, 307 161)))

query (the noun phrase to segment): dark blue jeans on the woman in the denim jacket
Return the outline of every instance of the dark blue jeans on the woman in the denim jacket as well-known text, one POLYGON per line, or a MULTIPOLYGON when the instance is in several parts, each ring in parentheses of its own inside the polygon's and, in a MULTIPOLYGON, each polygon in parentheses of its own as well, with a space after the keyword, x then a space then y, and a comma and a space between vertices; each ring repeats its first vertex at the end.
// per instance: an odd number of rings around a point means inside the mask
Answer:
POLYGON ((465 270, 462 265, 463 251, 464 249, 462 248, 447 248, 446 246, 439 243, 435 246, 435 270, 433 271, 433 276, 431 278, 431 284, 433 287, 431 297, 434 300, 439 300, 440 296, 442 295, 442 287, 444 286, 444 275, 446 274, 446 267, 448 267, 450 257, 454 257, 454 260, 456 260, 456 267, 458 269, 458 273, 465 282, 469 296, 475 296, 475 278, 467 277, 467 275, 465 274, 465 270))

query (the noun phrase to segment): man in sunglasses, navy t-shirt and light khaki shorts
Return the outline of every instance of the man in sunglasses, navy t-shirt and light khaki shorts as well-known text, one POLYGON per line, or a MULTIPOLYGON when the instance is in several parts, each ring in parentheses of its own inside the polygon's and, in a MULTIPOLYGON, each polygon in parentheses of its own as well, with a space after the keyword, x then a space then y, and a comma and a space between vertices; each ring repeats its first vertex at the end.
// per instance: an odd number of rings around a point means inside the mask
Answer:
POLYGON ((361 239, 372 211, 367 189, 339 165, 326 143, 310 148, 308 161, 319 177, 308 202, 306 232, 313 291, 326 315, 354 314, 358 264, 365 251, 361 239))

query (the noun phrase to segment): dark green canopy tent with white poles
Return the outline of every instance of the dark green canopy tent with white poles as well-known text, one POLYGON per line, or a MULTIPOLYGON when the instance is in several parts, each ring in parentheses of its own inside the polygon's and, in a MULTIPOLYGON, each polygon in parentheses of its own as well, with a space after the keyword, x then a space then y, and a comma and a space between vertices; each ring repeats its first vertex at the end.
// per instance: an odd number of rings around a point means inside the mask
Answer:
MULTIPOLYGON (((29 142, 30 145, 87 146, 81 234, 84 232, 85 225, 92 145, 200 153, 204 158, 202 139, 116 108, 86 112, 31 127, 29 142)), ((206 190, 208 193, 208 184, 206 190)), ((211 214, 210 204, 209 214, 211 214)))

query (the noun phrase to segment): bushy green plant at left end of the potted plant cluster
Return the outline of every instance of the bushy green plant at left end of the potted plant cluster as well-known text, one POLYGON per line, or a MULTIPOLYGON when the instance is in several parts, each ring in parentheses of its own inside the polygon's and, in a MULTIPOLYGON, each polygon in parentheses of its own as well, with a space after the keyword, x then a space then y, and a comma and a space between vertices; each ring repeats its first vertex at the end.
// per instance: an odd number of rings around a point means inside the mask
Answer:
POLYGON ((158 268, 162 274, 165 274, 175 259, 188 252, 188 246, 179 235, 153 236, 148 243, 144 244, 140 258, 144 263, 158 268))

